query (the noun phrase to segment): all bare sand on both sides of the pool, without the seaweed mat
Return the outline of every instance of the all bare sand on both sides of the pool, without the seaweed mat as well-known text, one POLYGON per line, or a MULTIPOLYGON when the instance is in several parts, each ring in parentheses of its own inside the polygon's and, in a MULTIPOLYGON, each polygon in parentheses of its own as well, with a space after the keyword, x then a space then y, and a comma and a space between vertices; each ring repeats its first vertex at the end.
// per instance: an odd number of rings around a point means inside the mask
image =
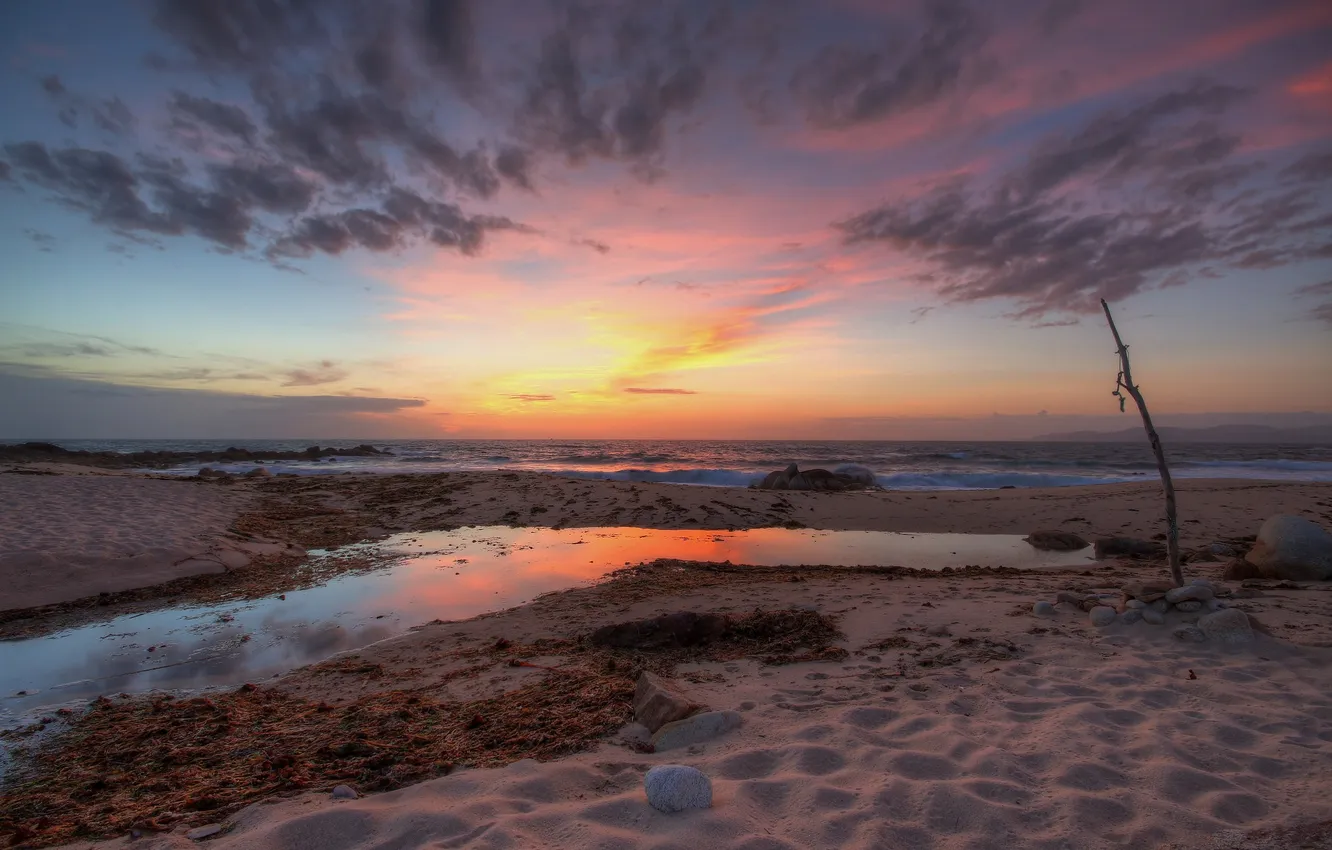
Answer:
MULTIPOLYGON (((27 540, 39 525, 64 522, 63 533, 41 532, 52 552, 57 544, 69 552, 69 541, 80 540, 123 560, 149 540, 198 545, 246 510, 250 494, 270 500, 264 516, 290 532, 289 540, 329 533, 318 526, 325 516, 336 516, 346 534, 441 524, 745 528, 794 520, 831 529, 1062 528, 1146 537, 1159 525, 1151 484, 829 494, 515 473, 236 485, 0 476, 0 493, 5 505, 32 512, 20 524, 27 540), (273 508, 281 504, 326 510, 284 526, 274 517, 285 514, 273 508), (63 518, 73 510, 77 520, 63 518), (168 521, 165 510, 177 513, 168 521), (127 513, 136 518, 127 521, 127 513), (109 549, 108 528, 133 529, 120 538, 124 549, 109 549)), ((1329 508, 1332 485, 1180 486, 1187 546, 1252 534, 1275 512, 1327 524, 1329 508)), ((3 542, 7 556, 13 540, 3 542)), ((1193 565, 1189 576, 1216 578, 1220 569, 1193 565)), ((1309 827, 1315 837, 1299 842, 1289 833, 1261 835, 1332 821, 1332 593, 1232 584, 1232 602, 1268 634, 1231 650, 1173 639, 1181 614, 1167 626, 1095 629, 1083 613, 1031 613, 1034 601, 1062 589, 1160 576, 1159 565, 1118 562, 1080 576, 811 572, 801 581, 658 568, 509 612, 428 624, 358 650, 356 663, 337 658, 269 686, 332 705, 397 689, 441 701, 500 695, 559 675, 543 667, 567 661, 534 659, 542 667, 496 661, 457 675, 501 638, 571 638, 674 610, 813 608, 836 620, 844 633, 838 645, 848 654, 777 666, 758 658, 679 665, 675 687, 745 717, 741 729, 694 747, 643 751, 645 730, 626 717, 591 751, 546 763, 464 767, 356 801, 334 802, 325 787, 225 818, 177 815, 170 833, 99 846, 196 846, 185 830, 210 819, 224 831, 209 843, 260 850, 1332 846, 1325 826, 1309 827), (376 674, 357 673, 366 669, 376 674), (706 773, 714 807, 671 815, 651 809, 643 774, 662 763, 706 773)))

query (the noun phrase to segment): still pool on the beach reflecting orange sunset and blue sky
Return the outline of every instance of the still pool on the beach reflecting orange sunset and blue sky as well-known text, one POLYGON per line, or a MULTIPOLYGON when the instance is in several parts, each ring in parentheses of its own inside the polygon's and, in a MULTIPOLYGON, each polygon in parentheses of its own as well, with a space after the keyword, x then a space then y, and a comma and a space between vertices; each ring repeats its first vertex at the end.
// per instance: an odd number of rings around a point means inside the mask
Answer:
POLYGON ((99 694, 257 682, 430 620, 502 610, 655 558, 918 569, 1091 564, 1091 549, 1038 552, 1015 534, 806 529, 488 526, 398 534, 338 552, 370 548, 401 558, 282 598, 172 608, 8 641, 0 649, 0 725, 35 707, 99 694))

